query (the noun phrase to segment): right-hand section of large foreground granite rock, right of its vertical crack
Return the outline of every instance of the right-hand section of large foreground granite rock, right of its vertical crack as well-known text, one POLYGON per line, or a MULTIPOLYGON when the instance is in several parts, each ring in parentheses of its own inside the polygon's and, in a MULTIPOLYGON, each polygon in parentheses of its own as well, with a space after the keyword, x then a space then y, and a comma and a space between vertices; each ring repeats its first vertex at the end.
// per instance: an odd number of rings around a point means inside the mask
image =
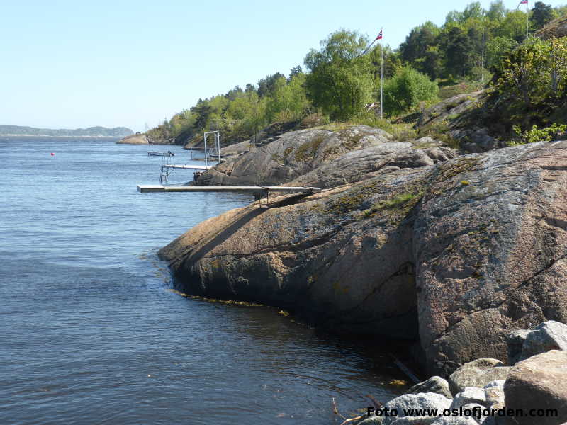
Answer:
POLYGON ((430 188, 413 244, 421 344, 447 374, 471 358, 506 358, 510 331, 567 321, 567 142, 437 167, 454 186, 430 188))

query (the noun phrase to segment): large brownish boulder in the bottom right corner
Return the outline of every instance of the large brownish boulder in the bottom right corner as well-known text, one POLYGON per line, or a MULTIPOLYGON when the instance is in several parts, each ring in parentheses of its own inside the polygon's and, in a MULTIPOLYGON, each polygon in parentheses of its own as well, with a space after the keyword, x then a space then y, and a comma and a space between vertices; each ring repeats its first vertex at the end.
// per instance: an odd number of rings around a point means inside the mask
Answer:
POLYGON ((507 409, 524 416, 507 418, 509 425, 558 425, 567 419, 567 352, 549 351, 517 363, 504 385, 507 409), (531 409, 556 409, 558 417, 529 416, 531 409))

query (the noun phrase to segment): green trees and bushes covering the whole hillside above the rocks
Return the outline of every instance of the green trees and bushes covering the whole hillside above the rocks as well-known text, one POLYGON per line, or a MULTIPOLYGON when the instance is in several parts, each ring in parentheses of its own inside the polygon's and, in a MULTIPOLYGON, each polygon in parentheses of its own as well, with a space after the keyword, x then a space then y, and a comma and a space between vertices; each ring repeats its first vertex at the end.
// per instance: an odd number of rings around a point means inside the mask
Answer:
MULTIPOLYGON (((503 0, 493 1, 485 11, 476 1, 464 11, 449 13, 442 26, 426 22, 413 28, 397 51, 377 43, 365 52, 366 37, 339 30, 322 40, 319 50, 308 52, 306 73, 297 66, 288 77, 276 72, 244 89, 235 86, 225 94, 199 99, 147 135, 158 142, 183 143, 191 137, 198 141, 203 131, 221 130, 224 143, 241 142, 254 140, 269 123, 301 123, 310 116, 300 128, 330 120, 365 123, 391 132, 398 140, 409 139, 415 136, 409 124, 392 124, 366 111, 369 103, 380 100, 382 58, 388 115, 423 108, 437 97, 438 86, 441 98, 481 89, 481 81, 490 80, 490 69, 498 81, 495 95, 506 99, 496 109, 509 123, 521 122, 523 128, 563 123, 565 45, 534 47, 537 42, 524 41, 527 17, 529 29, 534 30, 566 13, 567 6, 551 8, 537 2, 526 16, 525 11, 507 10, 503 0), (519 47, 519 43, 524 44, 519 47)), ((440 137, 443 124, 437 127, 427 131, 440 137)))

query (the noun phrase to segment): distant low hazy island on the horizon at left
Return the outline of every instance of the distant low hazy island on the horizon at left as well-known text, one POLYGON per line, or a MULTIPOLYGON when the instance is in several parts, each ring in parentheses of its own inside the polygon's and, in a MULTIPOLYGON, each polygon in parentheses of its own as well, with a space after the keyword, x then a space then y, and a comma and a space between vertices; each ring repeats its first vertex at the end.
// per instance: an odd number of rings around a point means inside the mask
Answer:
POLYGON ((19 125, 0 125, 0 136, 47 136, 47 137, 125 137, 133 135, 130 128, 125 127, 89 127, 74 130, 60 128, 33 128, 19 125))

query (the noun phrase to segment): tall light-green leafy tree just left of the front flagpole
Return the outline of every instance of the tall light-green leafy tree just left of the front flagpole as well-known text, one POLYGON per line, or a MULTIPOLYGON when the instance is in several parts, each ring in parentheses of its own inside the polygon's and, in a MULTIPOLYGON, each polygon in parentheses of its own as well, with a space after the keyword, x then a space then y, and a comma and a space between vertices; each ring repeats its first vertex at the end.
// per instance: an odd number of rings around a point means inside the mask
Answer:
POLYGON ((305 57, 308 97, 334 120, 353 118, 371 101, 371 67, 369 58, 361 55, 367 44, 357 32, 339 30, 305 57))

